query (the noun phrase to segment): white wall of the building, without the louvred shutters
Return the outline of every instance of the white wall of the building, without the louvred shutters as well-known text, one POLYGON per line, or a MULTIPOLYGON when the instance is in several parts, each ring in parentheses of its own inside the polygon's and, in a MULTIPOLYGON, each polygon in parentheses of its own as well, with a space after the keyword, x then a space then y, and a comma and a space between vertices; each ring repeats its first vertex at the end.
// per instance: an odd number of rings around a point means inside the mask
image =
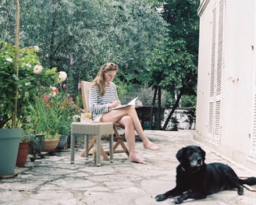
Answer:
MULTIPOLYGON (((226 0, 224 67, 222 72, 221 140, 214 144, 208 135, 208 101, 212 49, 212 9, 217 0, 201 1, 195 139, 207 143, 226 157, 248 165, 253 125, 255 80, 256 1, 226 0)), ((256 164, 250 164, 255 168, 256 164)))

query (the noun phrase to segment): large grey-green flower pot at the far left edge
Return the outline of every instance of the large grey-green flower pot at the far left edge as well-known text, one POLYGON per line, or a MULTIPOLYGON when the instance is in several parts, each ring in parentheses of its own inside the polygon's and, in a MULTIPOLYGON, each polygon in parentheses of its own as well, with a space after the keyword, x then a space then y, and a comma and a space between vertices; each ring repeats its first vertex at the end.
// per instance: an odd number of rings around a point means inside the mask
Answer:
POLYGON ((0 129, 0 175, 13 175, 23 129, 0 129))

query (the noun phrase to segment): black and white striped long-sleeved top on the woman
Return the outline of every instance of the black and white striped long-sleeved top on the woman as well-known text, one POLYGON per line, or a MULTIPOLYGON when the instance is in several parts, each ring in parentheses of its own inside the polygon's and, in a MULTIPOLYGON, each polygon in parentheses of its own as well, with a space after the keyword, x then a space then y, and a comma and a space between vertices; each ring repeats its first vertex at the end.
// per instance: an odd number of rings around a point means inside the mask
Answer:
POLYGON ((97 85, 93 85, 89 94, 89 105, 92 112, 92 118, 99 120, 101 116, 108 112, 108 103, 118 101, 119 97, 116 91, 116 84, 110 82, 108 87, 105 87, 105 94, 102 96, 97 85))

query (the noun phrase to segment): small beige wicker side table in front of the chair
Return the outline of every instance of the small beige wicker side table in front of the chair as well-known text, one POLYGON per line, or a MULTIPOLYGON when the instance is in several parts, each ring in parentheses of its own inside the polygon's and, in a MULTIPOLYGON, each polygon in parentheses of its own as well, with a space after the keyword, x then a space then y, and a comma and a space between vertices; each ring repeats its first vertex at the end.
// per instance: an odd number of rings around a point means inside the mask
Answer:
POLYGON ((96 136, 96 165, 101 166, 101 136, 109 135, 109 161, 113 161, 113 123, 97 122, 84 123, 73 122, 71 124, 71 142, 70 142, 70 163, 75 162, 75 134, 84 135, 85 159, 88 160, 88 144, 90 136, 96 136))

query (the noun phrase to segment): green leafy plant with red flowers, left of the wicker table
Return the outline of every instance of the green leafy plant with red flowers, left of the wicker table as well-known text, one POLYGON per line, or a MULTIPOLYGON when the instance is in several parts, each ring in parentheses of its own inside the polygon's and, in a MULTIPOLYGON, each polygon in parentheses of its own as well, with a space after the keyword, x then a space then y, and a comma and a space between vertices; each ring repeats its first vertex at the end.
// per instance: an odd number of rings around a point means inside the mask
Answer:
POLYGON ((58 90, 55 94, 37 94, 27 109, 29 117, 24 123, 25 129, 30 133, 44 134, 45 139, 59 138, 59 135, 70 133, 76 110, 73 99, 65 92, 58 90))

